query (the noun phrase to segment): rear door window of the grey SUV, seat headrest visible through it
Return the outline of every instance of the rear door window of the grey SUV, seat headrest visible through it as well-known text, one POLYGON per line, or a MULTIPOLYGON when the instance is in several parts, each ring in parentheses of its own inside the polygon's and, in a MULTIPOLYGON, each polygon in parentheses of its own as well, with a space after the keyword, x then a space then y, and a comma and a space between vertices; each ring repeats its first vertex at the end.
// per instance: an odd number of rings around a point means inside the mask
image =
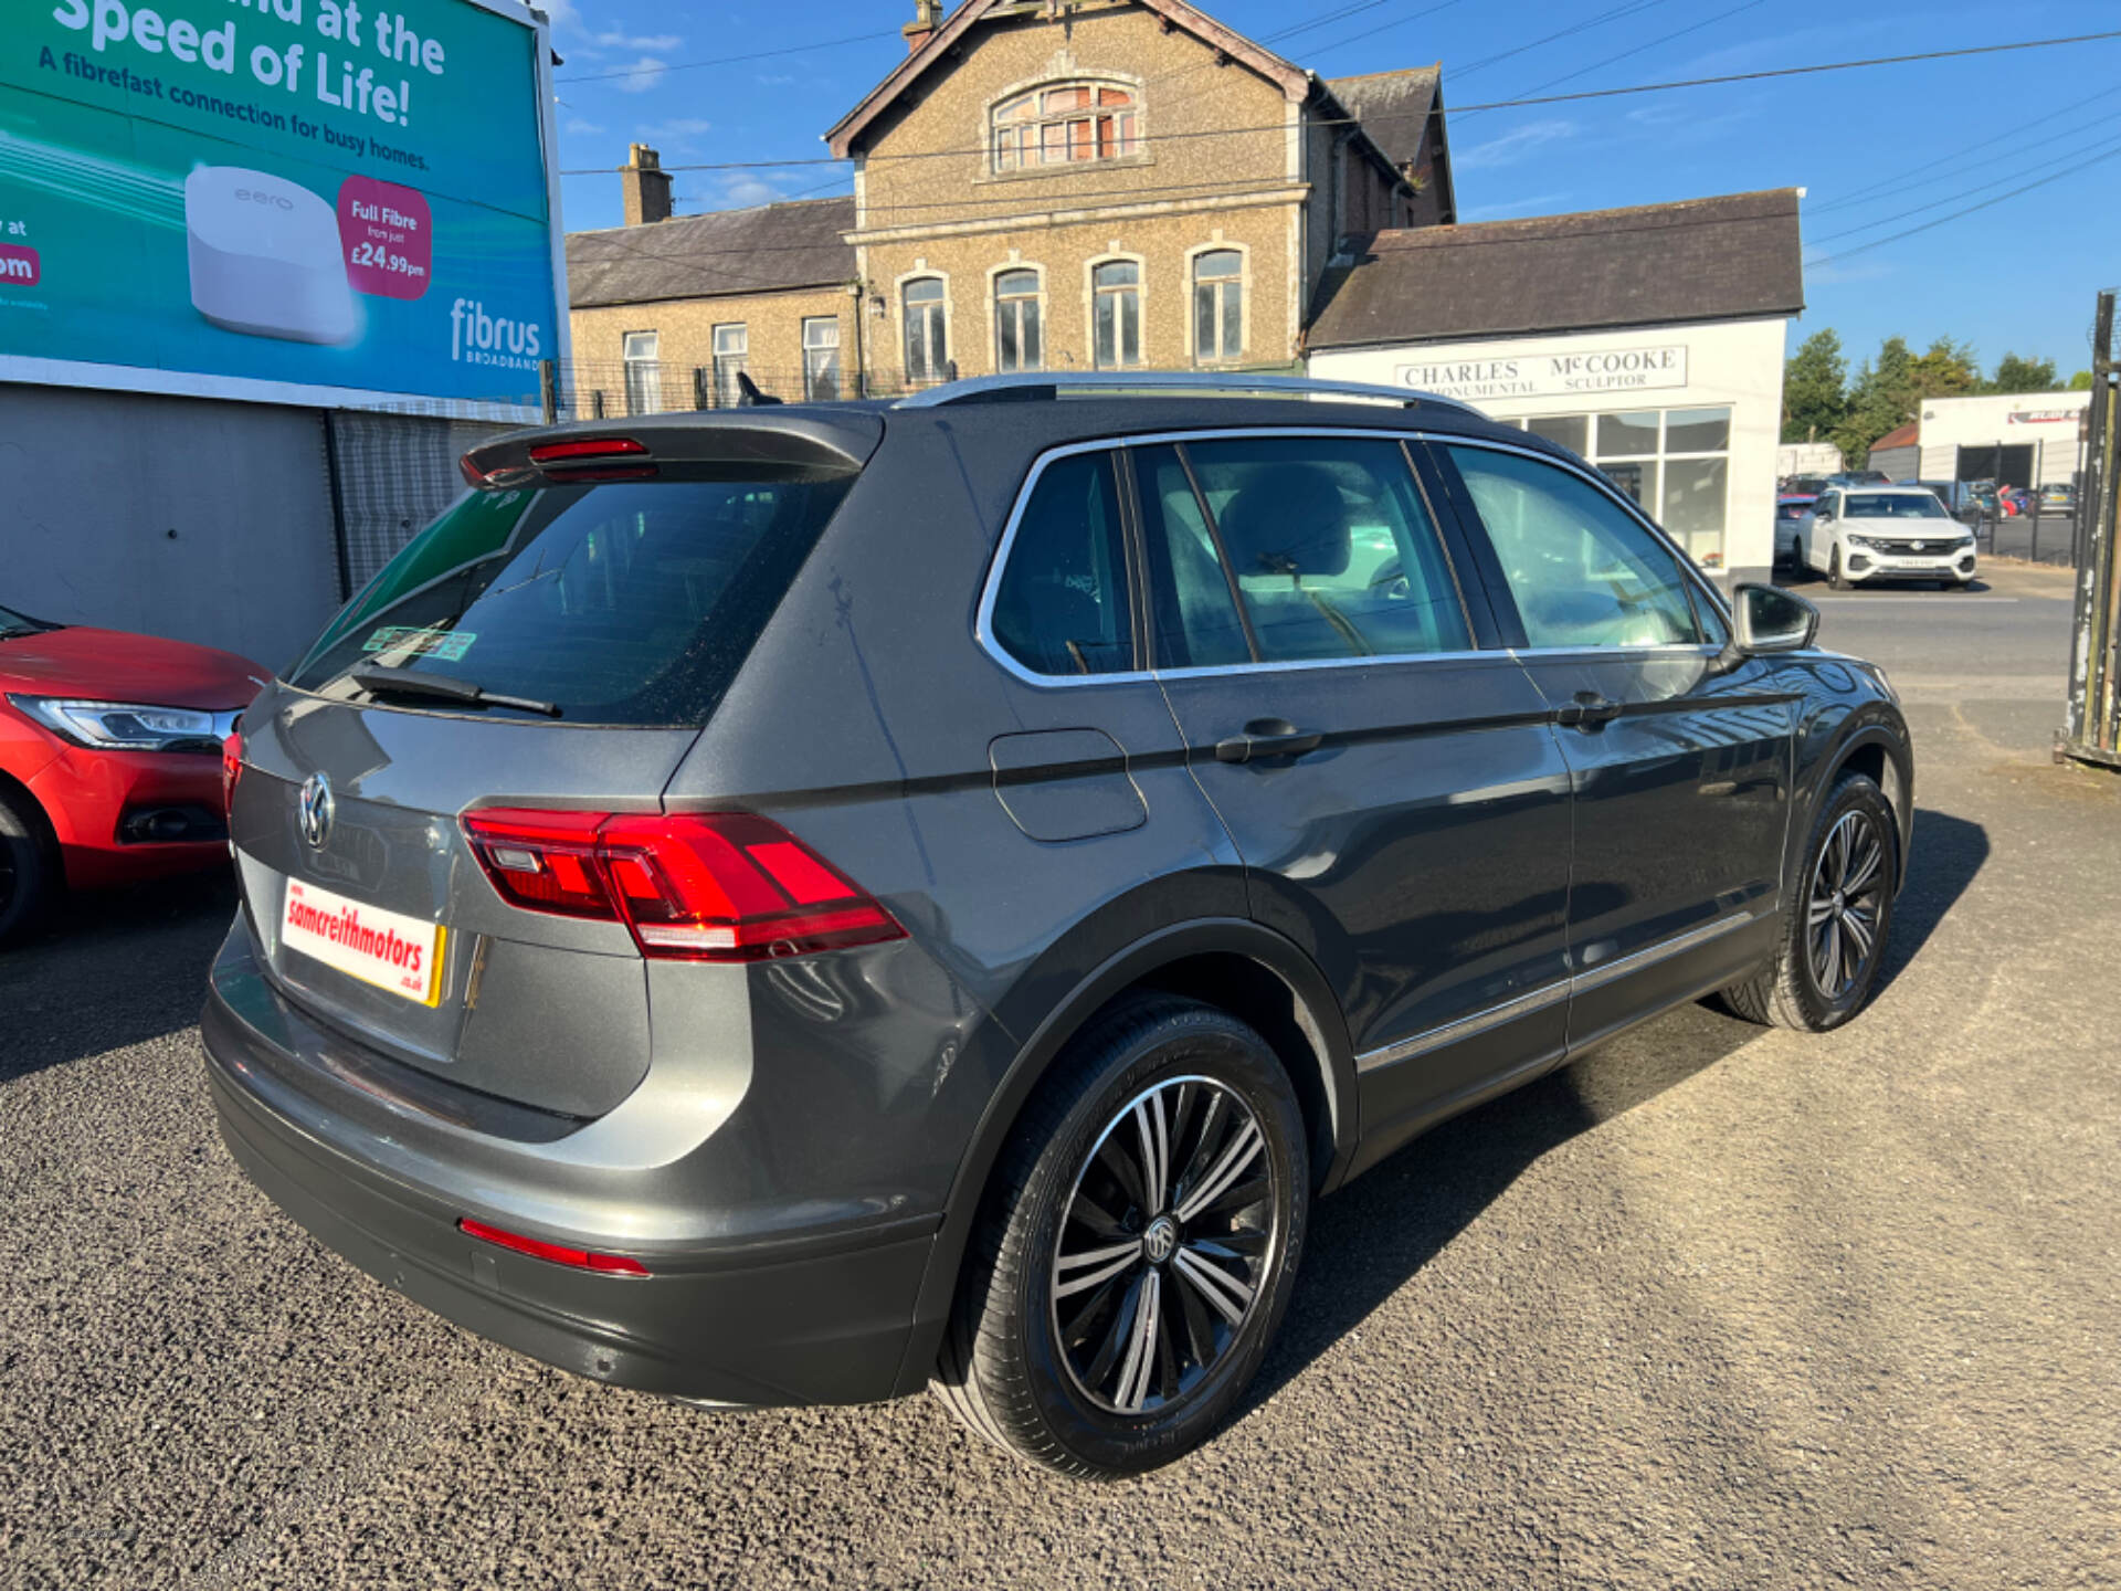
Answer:
POLYGON ((1260 662, 1311 662, 1472 647, 1398 443, 1188 443, 1205 505, 1179 490, 1175 462, 1173 450, 1150 448, 1139 473, 1152 569, 1175 598, 1167 605, 1175 613, 1158 613, 1164 666, 1243 662, 1251 649, 1260 662))

